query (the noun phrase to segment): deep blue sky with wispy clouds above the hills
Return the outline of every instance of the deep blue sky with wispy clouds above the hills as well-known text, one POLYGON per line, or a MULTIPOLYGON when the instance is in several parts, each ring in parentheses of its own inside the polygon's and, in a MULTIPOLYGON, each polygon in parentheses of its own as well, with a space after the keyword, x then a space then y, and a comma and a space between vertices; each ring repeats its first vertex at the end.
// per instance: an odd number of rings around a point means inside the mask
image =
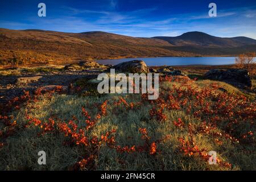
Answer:
POLYGON ((106 31, 152 37, 202 31, 221 37, 256 39, 256 1, 7 0, 0 2, 0 27, 62 32, 106 31), (38 3, 46 3, 46 17, 38 3), (208 5, 217 5, 217 17, 208 5))

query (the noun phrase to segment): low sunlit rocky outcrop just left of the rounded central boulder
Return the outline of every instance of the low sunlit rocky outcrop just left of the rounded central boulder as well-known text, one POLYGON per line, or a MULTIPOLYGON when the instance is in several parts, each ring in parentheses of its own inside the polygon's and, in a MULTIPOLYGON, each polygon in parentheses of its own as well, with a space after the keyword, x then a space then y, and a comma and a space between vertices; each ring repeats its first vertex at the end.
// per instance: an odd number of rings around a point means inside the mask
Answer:
POLYGON ((83 70, 90 70, 90 69, 107 69, 109 68, 108 65, 99 64, 96 61, 80 61, 79 63, 73 63, 66 65, 64 67, 65 70, 69 71, 83 71, 83 70))

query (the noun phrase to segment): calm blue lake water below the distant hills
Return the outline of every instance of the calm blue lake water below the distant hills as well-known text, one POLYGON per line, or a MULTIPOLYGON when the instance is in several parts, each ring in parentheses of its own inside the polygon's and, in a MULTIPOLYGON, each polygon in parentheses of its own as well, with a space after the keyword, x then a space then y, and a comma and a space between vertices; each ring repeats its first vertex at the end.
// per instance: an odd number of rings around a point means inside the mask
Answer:
POLYGON ((224 65, 234 64, 235 57, 138 57, 114 60, 98 60, 100 64, 119 64, 131 60, 143 60, 148 66, 161 65, 224 65))

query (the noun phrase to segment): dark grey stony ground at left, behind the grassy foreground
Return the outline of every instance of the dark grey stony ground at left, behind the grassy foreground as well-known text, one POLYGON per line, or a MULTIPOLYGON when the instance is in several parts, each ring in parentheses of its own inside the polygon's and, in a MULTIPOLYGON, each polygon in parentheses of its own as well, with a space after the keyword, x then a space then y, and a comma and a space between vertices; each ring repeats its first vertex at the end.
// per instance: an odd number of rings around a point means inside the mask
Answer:
POLYGON ((7 101, 23 94, 23 90, 31 92, 37 88, 46 85, 69 86, 79 78, 96 77, 101 71, 55 71, 55 72, 20 72, 20 75, 0 76, 0 102, 7 101), (24 77, 41 77, 37 81, 31 81, 27 84, 18 84, 17 80, 24 77))

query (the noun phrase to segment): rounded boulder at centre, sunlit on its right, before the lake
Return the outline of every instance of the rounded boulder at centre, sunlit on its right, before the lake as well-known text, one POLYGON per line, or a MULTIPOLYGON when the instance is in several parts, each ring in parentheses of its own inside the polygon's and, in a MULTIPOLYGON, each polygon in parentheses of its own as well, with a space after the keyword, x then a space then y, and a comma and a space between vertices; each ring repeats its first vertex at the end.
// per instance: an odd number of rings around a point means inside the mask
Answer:
POLYGON ((133 60, 123 62, 111 67, 115 69, 115 72, 123 72, 123 73, 149 73, 149 69, 146 63, 142 60, 133 60))

